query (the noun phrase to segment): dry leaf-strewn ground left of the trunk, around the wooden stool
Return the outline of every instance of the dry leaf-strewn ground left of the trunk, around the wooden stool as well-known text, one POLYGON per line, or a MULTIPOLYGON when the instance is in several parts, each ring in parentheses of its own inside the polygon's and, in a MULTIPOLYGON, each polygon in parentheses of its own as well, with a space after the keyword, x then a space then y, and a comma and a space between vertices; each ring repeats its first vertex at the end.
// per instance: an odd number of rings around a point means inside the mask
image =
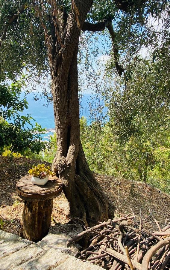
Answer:
MULTIPOLYGON (((39 163, 41 161, 27 158, 13 158, 13 160, 8 157, 0 158, 0 229, 22 237, 23 201, 15 191, 16 183, 22 176, 28 174, 32 165, 39 163)), ((51 226, 56 223, 68 223, 69 218, 62 214, 67 204, 63 193, 54 199, 51 226)))

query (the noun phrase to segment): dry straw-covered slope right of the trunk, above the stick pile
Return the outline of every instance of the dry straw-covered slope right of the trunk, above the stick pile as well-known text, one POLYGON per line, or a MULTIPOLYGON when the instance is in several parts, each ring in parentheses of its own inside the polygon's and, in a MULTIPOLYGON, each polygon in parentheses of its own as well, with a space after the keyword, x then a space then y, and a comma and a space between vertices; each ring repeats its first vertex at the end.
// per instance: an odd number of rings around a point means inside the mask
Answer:
MULTIPOLYGON (((143 182, 130 181, 127 179, 116 179, 113 176, 95 174, 109 199, 115 206, 115 215, 119 212, 128 214, 130 207, 136 217, 140 217, 139 209, 142 210, 142 217, 147 217, 149 208, 153 210, 154 216, 164 225, 165 219, 170 218, 170 195, 166 194, 151 185, 143 182)), ((151 219, 148 227, 157 230, 157 226, 151 219)))

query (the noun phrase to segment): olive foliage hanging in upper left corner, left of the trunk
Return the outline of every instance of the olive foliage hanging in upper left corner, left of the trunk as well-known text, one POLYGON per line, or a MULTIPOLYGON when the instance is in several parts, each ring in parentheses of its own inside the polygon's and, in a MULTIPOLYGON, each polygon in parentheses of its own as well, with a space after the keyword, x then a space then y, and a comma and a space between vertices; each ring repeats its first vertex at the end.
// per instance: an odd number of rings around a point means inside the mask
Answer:
POLYGON ((24 6, 16 20, 8 27, 6 38, 0 49, 0 80, 13 80, 23 71, 38 78, 48 70, 44 30, 40 26, 32 1, 0 1, 0 33, 3 34, 8 18, 18 14, 19 7, 24 6), (25 4, 25 6, 24 6, 25 4))

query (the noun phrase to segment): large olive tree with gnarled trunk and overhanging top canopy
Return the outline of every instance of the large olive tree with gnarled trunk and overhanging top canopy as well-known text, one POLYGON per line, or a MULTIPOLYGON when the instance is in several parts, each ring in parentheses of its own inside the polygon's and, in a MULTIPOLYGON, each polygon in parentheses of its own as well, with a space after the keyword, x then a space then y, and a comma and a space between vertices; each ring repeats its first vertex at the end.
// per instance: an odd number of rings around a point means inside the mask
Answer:
MULTIPOLYGON (((119 76, 120 54, 145 43, 149 16, 160 16, 164 1, 0 1, 1 77, 23 70, 37 79, 49 68, 57 153, 53 170, 63 182, 70 214, 92 224, 113 215, 113 206, 89 170, 80 141, 78 48, 82 31, 109 32, 119 76), (116 29, 114 29, 114 27, 116 29), (142 34, 143 33, 143 34, 142 34), (142 37, 141 37, 142 34, 142 37), (119 45, 119 46, 118 46, 119 45)), ((125 52, 126 53, 126 52, 125 52)))

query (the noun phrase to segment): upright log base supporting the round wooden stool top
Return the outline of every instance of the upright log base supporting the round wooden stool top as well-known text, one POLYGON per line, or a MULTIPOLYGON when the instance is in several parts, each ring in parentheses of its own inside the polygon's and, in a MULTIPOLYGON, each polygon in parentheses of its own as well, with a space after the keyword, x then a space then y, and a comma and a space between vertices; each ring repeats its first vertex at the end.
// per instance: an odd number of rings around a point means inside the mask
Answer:
POLYGON ((40 202, 24 202, 22 221, 25 239, 38 242, 48 234, 52 208, 53 199, 40 202))

